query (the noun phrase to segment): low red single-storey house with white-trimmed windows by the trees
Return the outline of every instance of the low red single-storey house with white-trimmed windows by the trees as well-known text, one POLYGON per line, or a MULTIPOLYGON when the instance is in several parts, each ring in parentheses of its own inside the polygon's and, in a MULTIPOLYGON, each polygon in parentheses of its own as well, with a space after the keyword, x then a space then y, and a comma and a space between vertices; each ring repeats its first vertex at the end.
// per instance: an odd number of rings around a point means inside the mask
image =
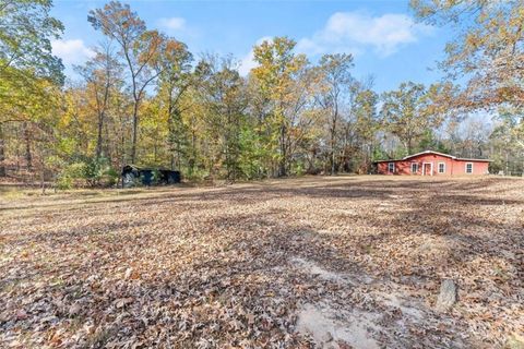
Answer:
POLYGON ((462 176, 487 174, 490 160, 465 159, 426 151, 398 160, 376 161, 379 174, 462 176))

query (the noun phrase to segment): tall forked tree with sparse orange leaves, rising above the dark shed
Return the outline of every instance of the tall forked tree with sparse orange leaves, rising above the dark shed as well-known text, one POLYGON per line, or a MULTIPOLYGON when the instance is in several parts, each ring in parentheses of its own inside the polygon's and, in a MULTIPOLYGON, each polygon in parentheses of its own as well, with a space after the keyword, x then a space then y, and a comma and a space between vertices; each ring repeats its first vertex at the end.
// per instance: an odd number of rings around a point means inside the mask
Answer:
POLYGON ((160 73, 153 69, 165 41, 157 31, 147 31, 144 21, 129 4, 111 1, 104 9, 90 12, 87 20, 95 29, 115 39, 129 70, 133 97, 133 132, 131 141, 131 163, 136 160, 139 132, 139 110, 146 88, 160 73))

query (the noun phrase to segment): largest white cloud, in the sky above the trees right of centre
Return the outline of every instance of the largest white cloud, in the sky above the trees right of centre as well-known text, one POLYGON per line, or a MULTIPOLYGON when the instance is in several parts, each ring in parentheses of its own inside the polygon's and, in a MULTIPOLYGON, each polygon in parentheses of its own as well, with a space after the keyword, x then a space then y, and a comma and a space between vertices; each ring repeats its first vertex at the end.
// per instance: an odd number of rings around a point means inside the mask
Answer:
POLYGON ((432 32, 431 26, 415 23, 406 14, 371 16, 364 12, 337 12, 321 31, 300 39, 297 51, 310 55, 342 51, 359 55, 371 48, 379 56, 386 57, 432 32))

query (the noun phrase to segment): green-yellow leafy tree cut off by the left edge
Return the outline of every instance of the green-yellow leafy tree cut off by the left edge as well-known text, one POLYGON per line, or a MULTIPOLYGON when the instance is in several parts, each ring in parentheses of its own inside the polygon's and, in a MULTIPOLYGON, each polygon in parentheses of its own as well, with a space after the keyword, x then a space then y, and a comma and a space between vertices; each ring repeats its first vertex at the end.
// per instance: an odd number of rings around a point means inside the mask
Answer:
MULTIPOLYGON (((22 121, 28 104, 24 94, 41 95, 39 81, 63 81, 61 61, 51 53, 51 39, 60 37, 62 24, 50 16, 50 0, 0 2, 0 177, 5 172, 3 125, 22 121)), ((25 95, 28 97, 28 95, 25 95)))

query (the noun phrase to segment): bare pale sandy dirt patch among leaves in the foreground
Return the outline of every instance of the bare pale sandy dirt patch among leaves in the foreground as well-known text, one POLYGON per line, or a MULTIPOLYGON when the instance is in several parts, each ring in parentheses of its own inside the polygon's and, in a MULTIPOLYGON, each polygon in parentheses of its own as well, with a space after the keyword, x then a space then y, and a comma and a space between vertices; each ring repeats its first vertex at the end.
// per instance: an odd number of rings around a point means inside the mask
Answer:
MULTIPOLYGON (((409 294, 402 285, 366 275, 326 270, 319 264, 301 257, 290 258, 293 269, 341 286, 341 293, 352 294, 341 302, 338 294, 330 292, 305 303, 298 311, 297 330, 311 336, 320 348, 379 348, 379 339, 391 341, 398 334, 408 335, 409 328, 429 326, 426 316, 431 310, 409 294), (384 290, 384 286, 388 287, 384 290), (366 310, 366 309, 373 309, 366 310), (346 346, 346 347, 344 347, 346 346)), ((293 273, 281 268, 283 273, 293 273)))

